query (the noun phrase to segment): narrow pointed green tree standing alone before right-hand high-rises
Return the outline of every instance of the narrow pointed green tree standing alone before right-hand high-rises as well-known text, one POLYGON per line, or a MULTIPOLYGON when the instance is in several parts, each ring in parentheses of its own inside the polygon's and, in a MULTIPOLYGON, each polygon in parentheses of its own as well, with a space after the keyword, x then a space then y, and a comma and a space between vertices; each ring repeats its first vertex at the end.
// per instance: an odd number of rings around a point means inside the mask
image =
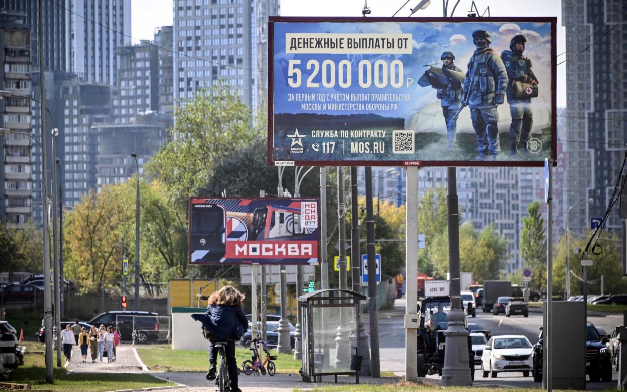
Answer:
POLYGON ((542 291, 545 287, 547 241, 544 234, 544 219, 540 216, 540 203, 534 201, 527 207, 529 216, 522 218, 520 253, 525 267, 531 270, 530 287, 542 291))

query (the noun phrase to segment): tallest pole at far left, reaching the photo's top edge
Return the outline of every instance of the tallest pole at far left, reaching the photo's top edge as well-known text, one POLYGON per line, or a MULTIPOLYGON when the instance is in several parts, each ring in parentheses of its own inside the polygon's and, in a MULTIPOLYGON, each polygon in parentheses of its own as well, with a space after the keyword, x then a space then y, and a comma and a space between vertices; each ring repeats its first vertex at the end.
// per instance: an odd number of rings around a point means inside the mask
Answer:
MULTIPOLYGON (((46 31, 45 26, 43 24, 43 0, 39 0, 39 46, 40 46, 40 93, 41 93, 41 160, 43 161, 43 187, 42 189, 42 197, 43 197, 43 277, 44 277, 44 287, 43 290, 43 299, 44 299, 44 327, 46 333, 44 334, 44 339, 46 342, 46 383, 53 383, 53 373, 52 373, 52 298, 50 295, 50 236, 49 228, 48 228, 48 208, 50 205, 48 204, 48 154, 46 149, 48 149, 48 132, 46 131, 46 61, 45 61, 45 51, 44 51, 44 38, 45 34, 43 31, 46 31)), ((57 282, 58 285, 58 282, 57 282)))

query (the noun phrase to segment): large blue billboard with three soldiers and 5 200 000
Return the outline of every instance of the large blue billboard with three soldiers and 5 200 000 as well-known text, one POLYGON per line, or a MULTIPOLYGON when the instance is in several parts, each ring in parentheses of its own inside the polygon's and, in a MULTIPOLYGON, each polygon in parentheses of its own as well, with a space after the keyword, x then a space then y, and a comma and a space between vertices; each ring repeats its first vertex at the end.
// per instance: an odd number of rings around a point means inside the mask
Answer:
POLYGON ((556 18, 270 18, 268 164, 556 159, 556 18))

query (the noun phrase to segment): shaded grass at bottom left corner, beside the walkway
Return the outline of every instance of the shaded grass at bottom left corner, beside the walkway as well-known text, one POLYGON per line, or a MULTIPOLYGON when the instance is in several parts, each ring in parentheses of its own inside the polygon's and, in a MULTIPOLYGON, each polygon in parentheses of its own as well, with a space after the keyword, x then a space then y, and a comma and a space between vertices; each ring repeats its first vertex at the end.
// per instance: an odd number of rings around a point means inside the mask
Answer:
MULTIPOLYGON (((35 390, 105 392, 172 385, 172 383, 148 374, 68 374, 64 368, 57 368, 56 366, 53 368, 55 383, 46 384, 46 359, 43 343, 21 342, 20 345, 26 346, 24 366, 19 366, 14 373, 13 381, 10 382, 29 384, 35 390)), ((53 364, 56 365, 56 350, 53 351, 53 364)))

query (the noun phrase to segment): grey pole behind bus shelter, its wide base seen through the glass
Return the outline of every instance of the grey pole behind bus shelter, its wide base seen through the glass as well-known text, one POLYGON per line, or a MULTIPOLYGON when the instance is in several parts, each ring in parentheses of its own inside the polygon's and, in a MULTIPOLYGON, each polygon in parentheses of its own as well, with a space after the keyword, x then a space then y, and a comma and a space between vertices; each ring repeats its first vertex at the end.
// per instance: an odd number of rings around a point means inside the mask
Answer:
MULTIPOLYGON (((346 289, 346 206, 344 202, 344 166, 337 167, 337 231, 339 241, 339 259, 337 260, 337 268, 339 269, 339 286, 340 289, 346 289)), ((344 312, 340 309, 339 325, 337 326, 337 338, 335 342, 335 367, 345 366, 349 362, 349 326, 345 325, 349 320, 345 318, 344 312)))

